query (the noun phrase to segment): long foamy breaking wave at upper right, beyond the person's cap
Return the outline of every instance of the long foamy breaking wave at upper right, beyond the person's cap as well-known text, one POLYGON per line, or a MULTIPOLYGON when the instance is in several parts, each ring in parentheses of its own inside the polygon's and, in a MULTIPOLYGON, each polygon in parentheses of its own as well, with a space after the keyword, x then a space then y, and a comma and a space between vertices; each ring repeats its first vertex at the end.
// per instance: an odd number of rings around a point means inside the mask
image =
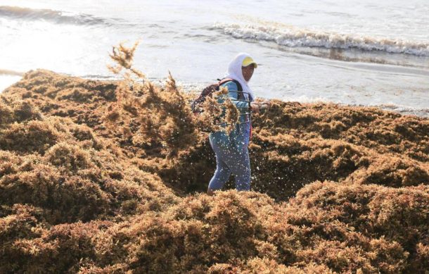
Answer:
POLYGON ((429 43, 395 39, 377 39, 334 32, 316 32, 288 25, 239 25, 215 23, 211 30, 222 30, 226 35, 240 39, 276 42, 283 46, 323 47, 326 49, 360 49, 385 51, 394 54, 429 56, 429 43))

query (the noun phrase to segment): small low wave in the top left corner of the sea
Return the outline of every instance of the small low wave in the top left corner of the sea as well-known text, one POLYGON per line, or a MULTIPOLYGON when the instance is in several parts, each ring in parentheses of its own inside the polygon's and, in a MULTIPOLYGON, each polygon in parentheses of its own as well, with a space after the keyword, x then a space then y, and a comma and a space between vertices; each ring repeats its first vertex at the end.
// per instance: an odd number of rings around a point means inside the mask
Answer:
POLYGON ((103 18, 88 14, 65 14, 51 9, 23 8, 18 6, 0 6, 0 17, 20 20, 47 20, 58 24, 73 25, 111 25, 103 18))

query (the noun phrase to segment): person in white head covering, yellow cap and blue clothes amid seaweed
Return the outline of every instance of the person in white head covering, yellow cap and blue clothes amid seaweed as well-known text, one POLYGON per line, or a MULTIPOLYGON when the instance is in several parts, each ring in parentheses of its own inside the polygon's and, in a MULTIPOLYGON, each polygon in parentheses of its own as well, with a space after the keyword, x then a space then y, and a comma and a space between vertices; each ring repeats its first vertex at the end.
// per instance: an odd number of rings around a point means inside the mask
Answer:
MULTIPOLYGON (((236 127, 227 134, 224 130, 210 132, 210 145, 216 155, 216 170, 207 187, 207 194, 212 196, 214 191, 222 189, 231 174, 236 180, 237 191, 250 190, 250 158, 248 144, 250 142, 252 121, 251 112, 258 113, 262 105, 269 106, 269 101, 258 103, 248 82, 252 77, 257 63, 247 53, 240 53, 229 63, 224 78, 238 81, 242 92, 236 82, 225 82, 221 87, 228 89, 228 97, 239 111, 236 127)), ((224 99, 217 99, 222 103, 224 99)))

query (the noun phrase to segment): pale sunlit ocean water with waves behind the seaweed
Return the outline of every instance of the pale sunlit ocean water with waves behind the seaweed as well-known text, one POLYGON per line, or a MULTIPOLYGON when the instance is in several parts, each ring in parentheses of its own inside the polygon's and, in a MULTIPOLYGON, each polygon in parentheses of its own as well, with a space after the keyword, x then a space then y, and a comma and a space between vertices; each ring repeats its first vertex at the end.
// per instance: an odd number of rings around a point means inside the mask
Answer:
POLYGON ((115 79, 113 45, 186 90, 245 51, 257 96, 380 106, 429 117, 428 0, 0 0, 0 92, 28 70, 115 79))

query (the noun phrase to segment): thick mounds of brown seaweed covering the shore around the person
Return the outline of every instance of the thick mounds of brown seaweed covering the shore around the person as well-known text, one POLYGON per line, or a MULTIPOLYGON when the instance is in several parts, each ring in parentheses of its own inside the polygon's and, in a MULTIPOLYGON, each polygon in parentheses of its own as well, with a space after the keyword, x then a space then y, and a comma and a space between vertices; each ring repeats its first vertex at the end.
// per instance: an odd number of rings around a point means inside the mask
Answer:
POLYGON ((32 70, 0 96, 0 273, 424 273, 429 120, 272 101, 213 197, 191 94, 32 70))

